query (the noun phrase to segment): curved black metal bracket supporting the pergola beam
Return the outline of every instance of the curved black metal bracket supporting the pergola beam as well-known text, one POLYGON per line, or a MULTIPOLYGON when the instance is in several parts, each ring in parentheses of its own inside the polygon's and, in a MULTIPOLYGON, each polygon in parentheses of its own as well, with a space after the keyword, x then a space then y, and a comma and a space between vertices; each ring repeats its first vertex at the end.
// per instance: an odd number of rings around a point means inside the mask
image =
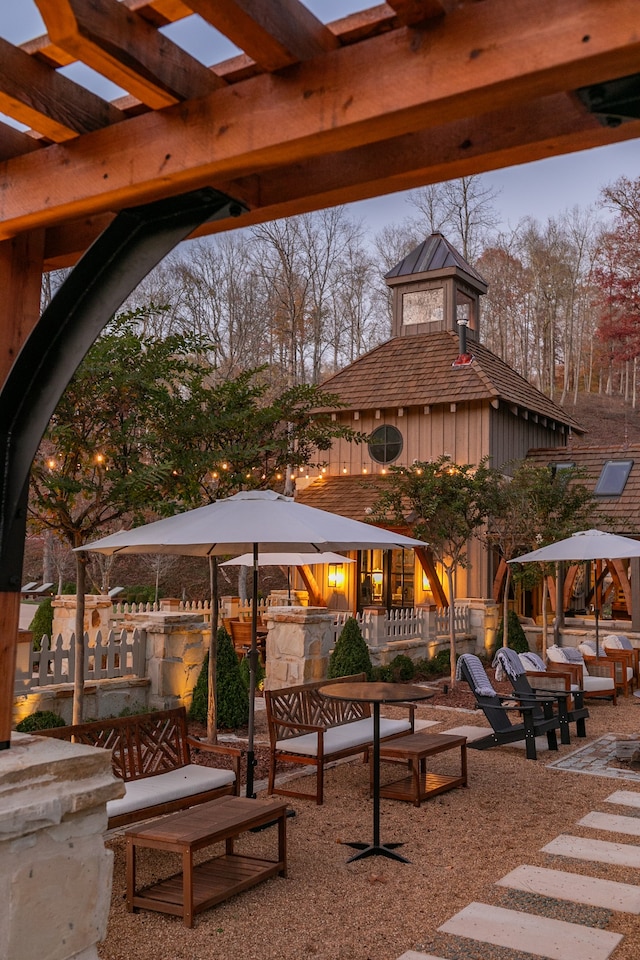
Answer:
POLYGON ((203 189, 121 211, 60 286, 0 390, 0 593, 20 589, 29 471, 81 360, 132 290, 200 224, 245 207, 203 189))

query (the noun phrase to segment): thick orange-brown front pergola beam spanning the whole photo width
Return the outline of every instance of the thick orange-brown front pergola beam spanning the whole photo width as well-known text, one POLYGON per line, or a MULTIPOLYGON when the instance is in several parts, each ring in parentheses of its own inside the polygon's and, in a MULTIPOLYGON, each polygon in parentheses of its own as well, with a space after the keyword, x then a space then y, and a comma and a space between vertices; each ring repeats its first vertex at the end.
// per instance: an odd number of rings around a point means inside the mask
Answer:
POLYGON ((580 0, 560 11, 541 0, 535 16, 527 4, 512 7, 505 16, 502 4, 478 4, 447 17, 446 29, 400 29, 300 64, 275 87, 269 76, 254 77, 21 157, 15 167, 9 160, 0 168, 0 237, 424 135, 443 120, 526 111, 532 100, 631 72, 640 60, 633 0, 621 0, 616 17, 595 0, 588 18, 580 0), (6 189, 18 172, 23 188, 6 189))

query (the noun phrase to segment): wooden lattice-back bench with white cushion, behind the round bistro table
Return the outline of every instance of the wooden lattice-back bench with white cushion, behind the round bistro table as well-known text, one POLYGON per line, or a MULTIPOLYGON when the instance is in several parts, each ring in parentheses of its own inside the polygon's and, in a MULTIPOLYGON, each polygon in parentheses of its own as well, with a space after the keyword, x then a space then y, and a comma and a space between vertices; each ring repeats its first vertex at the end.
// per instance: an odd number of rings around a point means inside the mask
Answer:
MULTIPOLYGON (((331 683, 362 682, 366 676, 339 677, 331 683)), ((265 705, 269 726, 269 782, 267 793, 285 797, 324 798, 324 767, 333 760, 359 753, 368 760, 373 746, 371 705, 351 700, 329 700, 319 688, 329 681, 317 680, 281 690, 266 690, 265 705), (276 787, 276 764, 298 763, 316 768, 316 792, 276 787)), ((407 709, 408 718, 380 718, 380 739, 389 740, 413 733, 415 704, 396 704, 407 709)))

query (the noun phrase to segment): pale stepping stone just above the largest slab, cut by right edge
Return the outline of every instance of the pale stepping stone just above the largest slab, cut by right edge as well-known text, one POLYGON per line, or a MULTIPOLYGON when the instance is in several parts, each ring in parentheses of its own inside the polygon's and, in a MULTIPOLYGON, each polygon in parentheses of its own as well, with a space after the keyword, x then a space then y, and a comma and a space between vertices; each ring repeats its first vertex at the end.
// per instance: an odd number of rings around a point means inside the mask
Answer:
POLYGON ((640 887, 615 880, 600 880, 583 877, 564 870, 547 870, 546 867, 516 867, 497 886, 539 893, 543 897, 584 903, 590 907, 604 907, 624 913, 640 913, 640 887))

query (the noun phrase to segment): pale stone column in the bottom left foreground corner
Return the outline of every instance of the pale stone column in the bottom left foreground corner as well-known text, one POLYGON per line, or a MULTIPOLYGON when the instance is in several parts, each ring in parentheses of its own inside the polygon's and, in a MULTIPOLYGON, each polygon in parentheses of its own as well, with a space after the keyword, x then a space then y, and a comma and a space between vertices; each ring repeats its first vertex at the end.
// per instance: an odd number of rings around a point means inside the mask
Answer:
POLYGON ((13 734, 0 760, 0 960, 97 960, 111 906, 108 750, 13 734))

